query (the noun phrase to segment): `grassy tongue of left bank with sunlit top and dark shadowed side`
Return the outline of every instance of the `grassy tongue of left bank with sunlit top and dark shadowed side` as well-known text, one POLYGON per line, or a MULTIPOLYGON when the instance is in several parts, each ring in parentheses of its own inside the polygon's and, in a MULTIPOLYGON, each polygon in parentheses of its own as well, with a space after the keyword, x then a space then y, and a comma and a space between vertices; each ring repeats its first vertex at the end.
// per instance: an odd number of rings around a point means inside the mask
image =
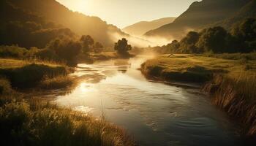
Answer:
POLYGON ((33 88, 45 77, 67 75, 67 66, 42 61, 0 59, 0 75, 10 80, 12 87, 33 88))

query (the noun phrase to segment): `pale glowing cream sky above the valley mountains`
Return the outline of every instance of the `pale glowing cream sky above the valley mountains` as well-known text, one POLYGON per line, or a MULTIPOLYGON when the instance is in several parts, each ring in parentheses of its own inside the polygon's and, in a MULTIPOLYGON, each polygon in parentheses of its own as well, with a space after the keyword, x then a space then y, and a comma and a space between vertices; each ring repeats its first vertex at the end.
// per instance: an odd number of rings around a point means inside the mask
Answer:
POLYGON ((143 20, 178 17, 197 0, 57 0, 73 11, 82 12, 124 28, 143 20))

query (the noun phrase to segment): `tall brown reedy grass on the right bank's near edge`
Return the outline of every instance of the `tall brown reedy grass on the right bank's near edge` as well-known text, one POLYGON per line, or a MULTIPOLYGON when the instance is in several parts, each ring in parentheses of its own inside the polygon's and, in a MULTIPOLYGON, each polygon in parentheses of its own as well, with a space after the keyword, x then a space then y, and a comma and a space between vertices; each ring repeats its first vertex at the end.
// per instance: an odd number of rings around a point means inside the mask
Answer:
POLYGON ((256 73, 238 77, 217 75, 204 87, 213 103, 229 115, 241 119, 244 134, 256 138, 256 73))

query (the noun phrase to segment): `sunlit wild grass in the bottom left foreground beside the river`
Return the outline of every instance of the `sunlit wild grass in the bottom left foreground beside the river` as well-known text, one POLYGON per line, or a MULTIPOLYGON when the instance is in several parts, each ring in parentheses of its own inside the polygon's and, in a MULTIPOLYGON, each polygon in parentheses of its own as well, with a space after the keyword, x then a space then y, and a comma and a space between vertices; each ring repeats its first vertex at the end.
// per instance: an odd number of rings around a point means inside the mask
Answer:
POLYGON ((80 112, 37 100, 0 107, 2 145, 135 145, 123 129, 80 112))

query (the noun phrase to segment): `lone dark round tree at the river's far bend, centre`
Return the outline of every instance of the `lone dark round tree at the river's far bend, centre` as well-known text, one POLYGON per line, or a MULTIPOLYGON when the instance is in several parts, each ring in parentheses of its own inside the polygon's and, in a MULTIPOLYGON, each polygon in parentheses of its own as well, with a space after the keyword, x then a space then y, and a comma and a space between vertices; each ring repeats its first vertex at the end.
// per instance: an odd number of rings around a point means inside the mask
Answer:
POLYGON ((127 55, 129 54, 128 51, 132 50, 132 46, 128 45, 128 41, 125 38, 118 40, 118 42, 115 43, 114 48, 117 53, 121 55, 127 55))

